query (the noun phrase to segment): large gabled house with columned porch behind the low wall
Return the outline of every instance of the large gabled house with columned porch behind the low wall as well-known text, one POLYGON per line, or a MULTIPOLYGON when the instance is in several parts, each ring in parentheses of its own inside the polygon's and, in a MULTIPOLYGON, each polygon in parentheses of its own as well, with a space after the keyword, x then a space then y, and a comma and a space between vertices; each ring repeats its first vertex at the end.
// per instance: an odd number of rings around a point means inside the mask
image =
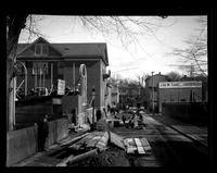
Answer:
MULTIPOLYGON (((56 87, 58 79, 64 81, 66 88, 79 88, 82 73, 80 66, 84 64, 87 71, 87 101, 75 103, 75 96, 63 96, 62 113, 71 113, 72 109, 77 109, 77 113, 81 113, 78 107, 89 107, 93 88, 95 109, 105 107, 105 88, 110 77, 106 72, 106 44, 51 44, 39 37, 31 44, 18 44, 17 61, 23 62, 27 69, 28 94, 37 89, 50 92, 56 87)), ((16 77, 16 86, 20 89, 24 89, 24 73, 16 77)))

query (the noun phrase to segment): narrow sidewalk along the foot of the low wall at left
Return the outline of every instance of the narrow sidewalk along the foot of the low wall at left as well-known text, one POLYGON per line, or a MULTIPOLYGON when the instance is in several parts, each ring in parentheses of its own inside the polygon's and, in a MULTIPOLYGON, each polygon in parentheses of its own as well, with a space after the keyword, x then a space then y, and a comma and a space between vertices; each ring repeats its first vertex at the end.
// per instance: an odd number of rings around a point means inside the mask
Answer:
POLYGON ((64 147, 61 145, 64 145, 68 140, 71 140, 81 134, 84 134, 84 133, 80 132, 80 133, 68 134, 68 136, 66 138, 52 145, 46 151, 37 152, 34 156, 26 158, 26 159, 22 160, 21 162, 13 164, 11 166, 55 166, 58 163, 60 163, 64 159, 61 156, 66 152, 67 147, 64 147))

